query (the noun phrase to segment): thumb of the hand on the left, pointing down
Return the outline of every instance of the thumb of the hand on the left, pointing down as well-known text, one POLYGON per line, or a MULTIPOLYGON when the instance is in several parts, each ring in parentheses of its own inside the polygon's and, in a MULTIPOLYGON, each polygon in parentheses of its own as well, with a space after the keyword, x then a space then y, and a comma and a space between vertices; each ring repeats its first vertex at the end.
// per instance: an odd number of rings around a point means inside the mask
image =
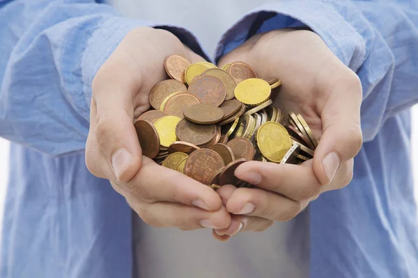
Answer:
POLYGON ((104 167, 104 177, 116 177, 121 182, 130 181, 141 167, 142 152, 133 124, 131 96, 130 88, 123 82, 110 80, 93 85, 96 115, 92 115, 91 124, 95 128, 95 145, 110 166, 104 167))

